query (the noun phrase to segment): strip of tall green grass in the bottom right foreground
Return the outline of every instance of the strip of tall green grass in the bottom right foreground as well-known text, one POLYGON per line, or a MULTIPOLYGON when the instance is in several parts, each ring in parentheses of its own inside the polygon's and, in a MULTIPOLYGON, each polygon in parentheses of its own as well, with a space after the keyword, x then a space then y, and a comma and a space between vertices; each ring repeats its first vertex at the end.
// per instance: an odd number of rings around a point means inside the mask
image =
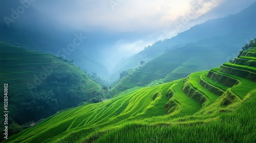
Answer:
POLYGON ((190 125, 136 125, 104 132, 93 142, 255 142, 256 92, 231 113, 218 120, 190 125))

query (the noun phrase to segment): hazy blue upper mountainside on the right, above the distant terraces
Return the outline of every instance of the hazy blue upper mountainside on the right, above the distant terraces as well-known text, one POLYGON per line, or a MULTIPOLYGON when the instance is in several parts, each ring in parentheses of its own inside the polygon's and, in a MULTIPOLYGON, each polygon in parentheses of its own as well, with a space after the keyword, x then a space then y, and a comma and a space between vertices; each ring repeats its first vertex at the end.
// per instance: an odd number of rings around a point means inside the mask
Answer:
MULTIPOLYGON (((204 46, 201 45, 210 45, 214 49, 215 47, 219 47, 221 52, 227 54, 227 57, 230 57, 230 59, 234 58, 237 56, 236 54, 240 50, 240 47, 251 38, 255 37, 255 8, 256 3, 237 14, 208 20, 200 25, 191 27, 185 32, 179 33, 175 37, 155 42, 132 58, 120 61, 113 70, 110 80, 118 79, 118 75, 121 71, 138 66, 141 60, 151 61, 163 53, 174 50, 177 47, 188 47, 190 44, 193 44, 199 51, 204 48, 204 46)), ((186 52, 187 51, 184 50, 183 54, 186 55, 186 52)), ((200 58, 200 56, 197 58, 200 58)), ((228 59, 223 59, 222 63, 227 61, 228 59)), ((182 66, 182 63, 179 63, 179 65, 182 66)), ((214 67, 215 66, 211 66, 210 68, 214 67)), ((193 71, 191 73, 193 73, 193 71)))

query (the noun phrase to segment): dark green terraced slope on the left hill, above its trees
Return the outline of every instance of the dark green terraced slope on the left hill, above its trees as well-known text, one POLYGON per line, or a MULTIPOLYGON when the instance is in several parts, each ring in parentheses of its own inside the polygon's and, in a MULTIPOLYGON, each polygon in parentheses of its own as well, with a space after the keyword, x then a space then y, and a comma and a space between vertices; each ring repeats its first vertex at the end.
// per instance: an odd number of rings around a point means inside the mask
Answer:
POLYGON ((78 69, 77 66, 62 62, 52 55, 31 52, 12 45, 4 46, 4 43, 0 43, 0 48, 0 79, 2 82, 7 82, 11 85, 11 91, 24 93, 29 90, 29 84, 33 85, 35 83, 36 85, 45 85, 47 87, 47 77, 50 76, 50 73, 58 73, 63 70, 82 74, 84 76, 83 89, 89 89, 90 91, 100 89, 100 86, 78 69), (37 81, 38 78, 39 80, 37 81))

